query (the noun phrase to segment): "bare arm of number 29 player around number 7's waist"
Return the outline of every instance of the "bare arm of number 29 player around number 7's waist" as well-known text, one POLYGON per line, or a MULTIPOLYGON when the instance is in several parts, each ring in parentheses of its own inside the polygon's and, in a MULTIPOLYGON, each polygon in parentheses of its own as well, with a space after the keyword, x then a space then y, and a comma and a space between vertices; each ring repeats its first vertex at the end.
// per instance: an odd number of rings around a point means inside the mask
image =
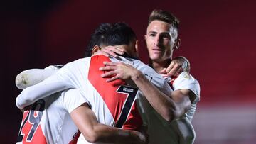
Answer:
POLYGON ((74 109, 70 116, 90 143, 147 143, 145 135, 140 132, 122 130, 98 123, 95 113, 87 103, 74 109))

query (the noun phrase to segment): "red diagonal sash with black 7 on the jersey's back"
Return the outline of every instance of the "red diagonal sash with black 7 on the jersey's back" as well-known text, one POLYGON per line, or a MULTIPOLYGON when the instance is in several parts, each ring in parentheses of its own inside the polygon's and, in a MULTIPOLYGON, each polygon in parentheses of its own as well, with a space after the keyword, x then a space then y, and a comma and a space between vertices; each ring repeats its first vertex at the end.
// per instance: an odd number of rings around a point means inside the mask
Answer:
POLYGON ((142 118, 134 102, 138 89, 125 86, 125 82, 120 79, 106 82, 107 78, 100 76, 104 72, 99 70, 99 67, 104 67, 104 61, 111 62, 103 55, 91 57, 88 79, 105 101, 116 127, 138 130, 142 126, 142 118))

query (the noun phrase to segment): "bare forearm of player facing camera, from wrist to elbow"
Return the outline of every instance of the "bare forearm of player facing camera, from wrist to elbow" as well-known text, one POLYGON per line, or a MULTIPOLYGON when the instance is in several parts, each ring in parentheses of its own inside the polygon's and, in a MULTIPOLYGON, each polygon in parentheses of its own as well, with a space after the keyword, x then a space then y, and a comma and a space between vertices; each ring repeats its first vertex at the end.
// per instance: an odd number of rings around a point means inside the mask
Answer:
POLYGON ((172 121, 178 117, 178 106, 171 97, 159 91, 149 82, 139 70, 134 71, 132 80, 142 91, 149 104, 158 112, 166 121, 172 121))

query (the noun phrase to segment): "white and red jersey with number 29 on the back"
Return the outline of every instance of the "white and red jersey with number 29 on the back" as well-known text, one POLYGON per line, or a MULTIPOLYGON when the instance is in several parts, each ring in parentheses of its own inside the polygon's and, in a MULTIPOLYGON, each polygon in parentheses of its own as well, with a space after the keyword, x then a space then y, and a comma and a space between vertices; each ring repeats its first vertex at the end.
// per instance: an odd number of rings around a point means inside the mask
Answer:
POLYGON ((24 111, 17 143, 75 143, 78 128, 70 113, 85 102, 78 89, 39 99, 31 110, 24 111))

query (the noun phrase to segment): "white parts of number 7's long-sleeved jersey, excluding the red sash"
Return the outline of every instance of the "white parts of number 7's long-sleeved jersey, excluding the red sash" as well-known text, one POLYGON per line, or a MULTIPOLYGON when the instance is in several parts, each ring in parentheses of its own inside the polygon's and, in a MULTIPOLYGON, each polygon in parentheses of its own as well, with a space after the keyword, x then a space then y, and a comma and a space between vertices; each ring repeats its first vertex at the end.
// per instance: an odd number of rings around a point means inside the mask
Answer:
MULTIPOLYGON (((164 81, 161 75, 157 74, 151 67, 144 65, 139 60, 134 60, 131 58, 120 57, 122 62, 128 63, 133 67, 141 70, 146 77, 153 82, 153 84, 158 87, 161 92, 166 94, 171 93, 171 88, 169 84, 164 81)), ((90 57, 75 60, 68 63, 63 68, 61 68, 56 74, 48 77, 48 79, 43 82, 36 84, 33 87, 28 87, 24 89, 23 92, 17 97, 16 105, 19 108, 23 108, 29 104, 33 104, 34 101, 42 99, 44 96, 48 96, 55 92, 61 91, 67 88, 77 88, 86 99, 89 101, 92 111, 95 112, 97 119, 100 123, 104 123, 110 126, 114 126, 114 120, 110 111, 107 110, 107 106, 100 96, 97 96, 97 91, 94 89, 92 84, 88 82, 87 73, 90 67, 90 57), (95 96, 96 95, 96 96, 95 96), (99 111, 104 109, 104 111, 99 111)), ((110 58, 111 61, 117 62, 119 60, 115 58, 110 58)), ((102 86, 104 87, 104 86, 102 86)), ((139 92, 139 98, 143 97, 142 93, 139 92)), ((142 108, 143 111, 143 108, 142 108)))

